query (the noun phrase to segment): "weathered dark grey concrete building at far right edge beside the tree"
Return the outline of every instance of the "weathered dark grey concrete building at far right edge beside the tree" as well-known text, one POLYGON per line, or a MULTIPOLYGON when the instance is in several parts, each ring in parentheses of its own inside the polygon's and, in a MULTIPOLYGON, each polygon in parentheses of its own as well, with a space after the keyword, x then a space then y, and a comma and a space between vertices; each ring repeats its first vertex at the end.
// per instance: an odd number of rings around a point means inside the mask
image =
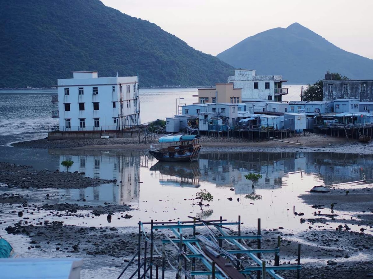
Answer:
POLYGON ((373 80, 333 80, 326 74, 323 80, 323 100, 358 99, 360 102, 373 102, 373 80))

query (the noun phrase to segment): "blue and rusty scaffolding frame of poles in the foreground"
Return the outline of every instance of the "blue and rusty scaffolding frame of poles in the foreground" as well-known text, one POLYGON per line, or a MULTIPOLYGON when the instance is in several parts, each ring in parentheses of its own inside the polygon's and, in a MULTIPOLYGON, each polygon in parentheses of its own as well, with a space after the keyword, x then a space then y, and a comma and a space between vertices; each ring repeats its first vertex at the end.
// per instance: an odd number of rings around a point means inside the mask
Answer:
MULTIPOLYGON (((297 270, 297 278, 300 278, 300 244, 298 245, 298 259, 296 265, 279 265, 280 259, 280 236, 278 236, 277 247, 261 248, 261 228, 260 219, 258 219, 258 231, 254 235, 241 235, 241 216, 238 216, 237 222, 227 222, 220 217, 219 220, 203 220, 196 217, 190 217, 193 221, 178 222, 139 222, 138 223, 138 251, 128 263, 122 274, 134 262, 137 256, 137 270, 132 273, 129 279, 134 278, 162 278, 164 279, 166 271, 166 261, 171 269, 175 271, 176 278, 194 279, 195 276, 208 276, 208 278, 233 278, 244 279, 254 278, 265 279, 266 275, 271 278, 282 279, 283 277, 276 273, 278 270, 297 270), (147 236, 144 225, 150 225, 150 235, 147 236), (230 235, 230 227, 238 227, 236 235, 230 235), (197 232, 197 228, 203 227, 207 237, 197 232), (164 234, 162 240, 162 251, 154 245, 154 233, 159 230, 169 230, 172 236, 164 234), (183 232, 192 230, 192 234, 183 232), (247 246, 245 240, 257 240, 257 248, 252 249, 247 246), (223 241, 225 246, 223 246, 223 241), (150 247, 148 248, 148 243, 150 247), (166 255, 166 244, 170 244, 177 252, 177 260, 170 262, 166 255), (144 256, 141 260, 141 247, 144 245, 144 256), (150 255, 148 256, 148 250, 150 255), (162 264, 154 264, 154 253, 158 258, 162 258, 162 264), (274 265, 267 265, 264 254, 274 255, 274 265), (243 257, 246 261, 253 264, 244 266, 243 257), (148 258, 149 257, 149 258, 148 258), (242 258, 241 258, 242 257, 242 258), (196 265, 196 260, 201 264, 196 265), (201 270, 197 270, 197 266, 201 270), (155 267, 155 275, 153 269, 155 267), (159 274, 159 268, 161 273, 159 274)), ((149 234, 149 233, 148 233, 149 234)), ((118 279, 122 276, 118 277, 118 279)))

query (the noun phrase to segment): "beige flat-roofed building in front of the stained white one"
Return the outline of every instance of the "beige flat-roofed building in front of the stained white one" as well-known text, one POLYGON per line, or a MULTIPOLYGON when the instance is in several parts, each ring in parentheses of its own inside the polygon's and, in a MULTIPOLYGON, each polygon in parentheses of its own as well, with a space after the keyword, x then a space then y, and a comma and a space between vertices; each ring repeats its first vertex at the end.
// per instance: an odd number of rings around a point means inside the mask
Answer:
POLYGON ((241 103, 241 88, 233 83, 217 83, 215 88, 198 88, 198 103, 241 103))

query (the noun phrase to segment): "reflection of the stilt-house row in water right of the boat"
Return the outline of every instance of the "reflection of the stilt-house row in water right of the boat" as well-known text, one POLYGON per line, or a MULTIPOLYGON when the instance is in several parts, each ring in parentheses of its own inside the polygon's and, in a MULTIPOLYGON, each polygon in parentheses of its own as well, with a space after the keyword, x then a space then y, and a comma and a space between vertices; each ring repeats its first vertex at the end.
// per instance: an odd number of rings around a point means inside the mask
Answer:
POLYGON ((259 173, 263 177, 256 188, 275 189, 283 185, 283 177, 299 172, 314 174, 327 186, 372 178, 371 155, 341 153, 201 153, 201 181, 216 187, 233 187, 236 194, 253 193, 245 174, 259 173))

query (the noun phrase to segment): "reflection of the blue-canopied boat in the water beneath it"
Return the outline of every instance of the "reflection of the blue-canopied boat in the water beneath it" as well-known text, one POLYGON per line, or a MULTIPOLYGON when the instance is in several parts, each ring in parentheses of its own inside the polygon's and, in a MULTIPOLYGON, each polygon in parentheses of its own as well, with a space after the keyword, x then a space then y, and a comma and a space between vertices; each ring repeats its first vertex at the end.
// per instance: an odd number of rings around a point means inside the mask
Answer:
POLYGON ((159 178, 161 185, 199 187, 200 165, 198 162, 158 162, 150 167, 153 177, 159 178))

